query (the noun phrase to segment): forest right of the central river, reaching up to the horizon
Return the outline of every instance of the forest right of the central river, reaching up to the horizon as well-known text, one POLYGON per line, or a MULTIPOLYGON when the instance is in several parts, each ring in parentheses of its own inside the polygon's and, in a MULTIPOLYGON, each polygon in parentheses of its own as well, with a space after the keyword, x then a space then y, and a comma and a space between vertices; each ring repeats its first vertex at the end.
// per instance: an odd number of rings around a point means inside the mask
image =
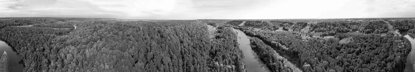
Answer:
MULTIPOLYGON (((252 37, 252 49, 259 53, 258 56, 273 72, 293 71, 286 66, 278 66, 282 61, 275 59, 276 57, 284 57, 302 71, 400 72, 405 69, 406 57, 411 51, 409 40, 390 32, 393 29, 399 30, 400 27, 396 24, 390 24, 394 26, 390 27, 387 21, 270 23, 273 25, 263 29, 252 29, 248 26, 231 27, 241 29, 252 37), (273 31, 275 27, 284 29, 273 31), (279 56, 273 56, 272 51, 277 51, 279 56)), ((400 23, 405 23, 401 25, 407 27, 413 25, 410 21, 400 23)), ((408 34, 414 32, 411 28, 408 34)))

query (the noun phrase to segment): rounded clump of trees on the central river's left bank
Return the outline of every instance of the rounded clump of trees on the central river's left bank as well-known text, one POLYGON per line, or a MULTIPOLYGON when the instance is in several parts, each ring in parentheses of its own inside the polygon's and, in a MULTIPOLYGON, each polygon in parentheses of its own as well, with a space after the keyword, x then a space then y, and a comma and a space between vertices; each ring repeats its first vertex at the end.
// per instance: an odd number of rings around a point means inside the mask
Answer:
POLYGON ((243 53, 237 43, 237 34, 230 27, 218 27, 212 40, 209 67, 211 71, 243 71, 243 53))

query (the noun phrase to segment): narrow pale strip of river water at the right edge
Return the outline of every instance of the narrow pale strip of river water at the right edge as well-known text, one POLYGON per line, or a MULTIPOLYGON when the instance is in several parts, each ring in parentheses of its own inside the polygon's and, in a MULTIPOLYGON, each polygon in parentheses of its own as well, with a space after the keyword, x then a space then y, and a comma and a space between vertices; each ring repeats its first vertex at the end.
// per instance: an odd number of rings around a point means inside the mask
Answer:
POLYGON ((414 61, 415 61, 415 39, 410 37, 409 35, 405 35, 405 38, 411 42, 411 52, 407 57, 406 67, 404 72, 414 72, 414 61))

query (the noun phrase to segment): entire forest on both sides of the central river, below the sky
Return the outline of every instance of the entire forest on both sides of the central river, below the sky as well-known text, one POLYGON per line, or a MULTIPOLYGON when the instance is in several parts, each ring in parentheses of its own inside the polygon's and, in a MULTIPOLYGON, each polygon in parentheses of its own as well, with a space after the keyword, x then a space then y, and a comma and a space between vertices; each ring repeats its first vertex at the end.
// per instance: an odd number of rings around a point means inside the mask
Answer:
POLYGON ((21 56, 24 71, 243 72, 247 64, 234 28, 250 37, 272 72, 400 72, 411 45, 396 30, 414 36, 414 23, 16 18, 0 19, 0 38, 21 56))

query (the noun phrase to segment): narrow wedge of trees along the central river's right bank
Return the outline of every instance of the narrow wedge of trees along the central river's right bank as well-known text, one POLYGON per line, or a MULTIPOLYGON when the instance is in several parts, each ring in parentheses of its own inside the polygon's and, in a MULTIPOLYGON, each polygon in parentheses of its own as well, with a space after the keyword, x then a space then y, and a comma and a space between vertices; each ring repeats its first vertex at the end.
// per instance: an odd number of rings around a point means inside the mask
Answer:
POLYGON ((295 55, 294 52, 287 51, 287 47, 280 46, 279 43, 265 43, 263 40, 257 38, 257 36, 253 34, 245 34, 245 32, 239 30, 243 29, 241 27, 234 27, 237 28, 238 33, 241 33, 246 38, 249 38, 251 50, 258 56, 260 62, 263 62, 266 68, 271 72, 279 72, 279 71, 291 71, 291 72, 302 72, 302 69, 297 67, 295 63, 291 61, 298 61, 295 60, 297 58, 293 58, 292 56, 295 55), (273 46, 270 46, 273 45, 273 46), (293 55, 288 55, 293 54, 293 55))

